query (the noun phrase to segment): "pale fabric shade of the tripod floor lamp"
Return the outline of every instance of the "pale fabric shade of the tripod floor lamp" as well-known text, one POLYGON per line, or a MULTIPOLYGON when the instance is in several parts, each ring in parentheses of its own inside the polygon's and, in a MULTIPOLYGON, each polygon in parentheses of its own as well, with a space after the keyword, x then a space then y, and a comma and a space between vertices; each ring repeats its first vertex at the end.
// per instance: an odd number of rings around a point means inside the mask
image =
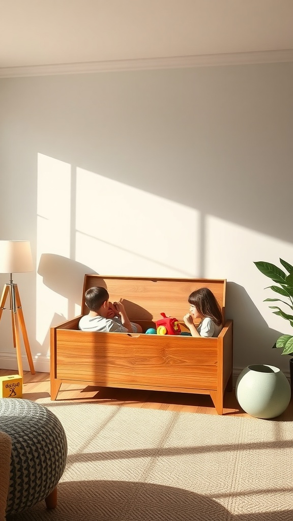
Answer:
POLYGON ((0 273, 32 270, 30 241, 0 241, 0 273))

